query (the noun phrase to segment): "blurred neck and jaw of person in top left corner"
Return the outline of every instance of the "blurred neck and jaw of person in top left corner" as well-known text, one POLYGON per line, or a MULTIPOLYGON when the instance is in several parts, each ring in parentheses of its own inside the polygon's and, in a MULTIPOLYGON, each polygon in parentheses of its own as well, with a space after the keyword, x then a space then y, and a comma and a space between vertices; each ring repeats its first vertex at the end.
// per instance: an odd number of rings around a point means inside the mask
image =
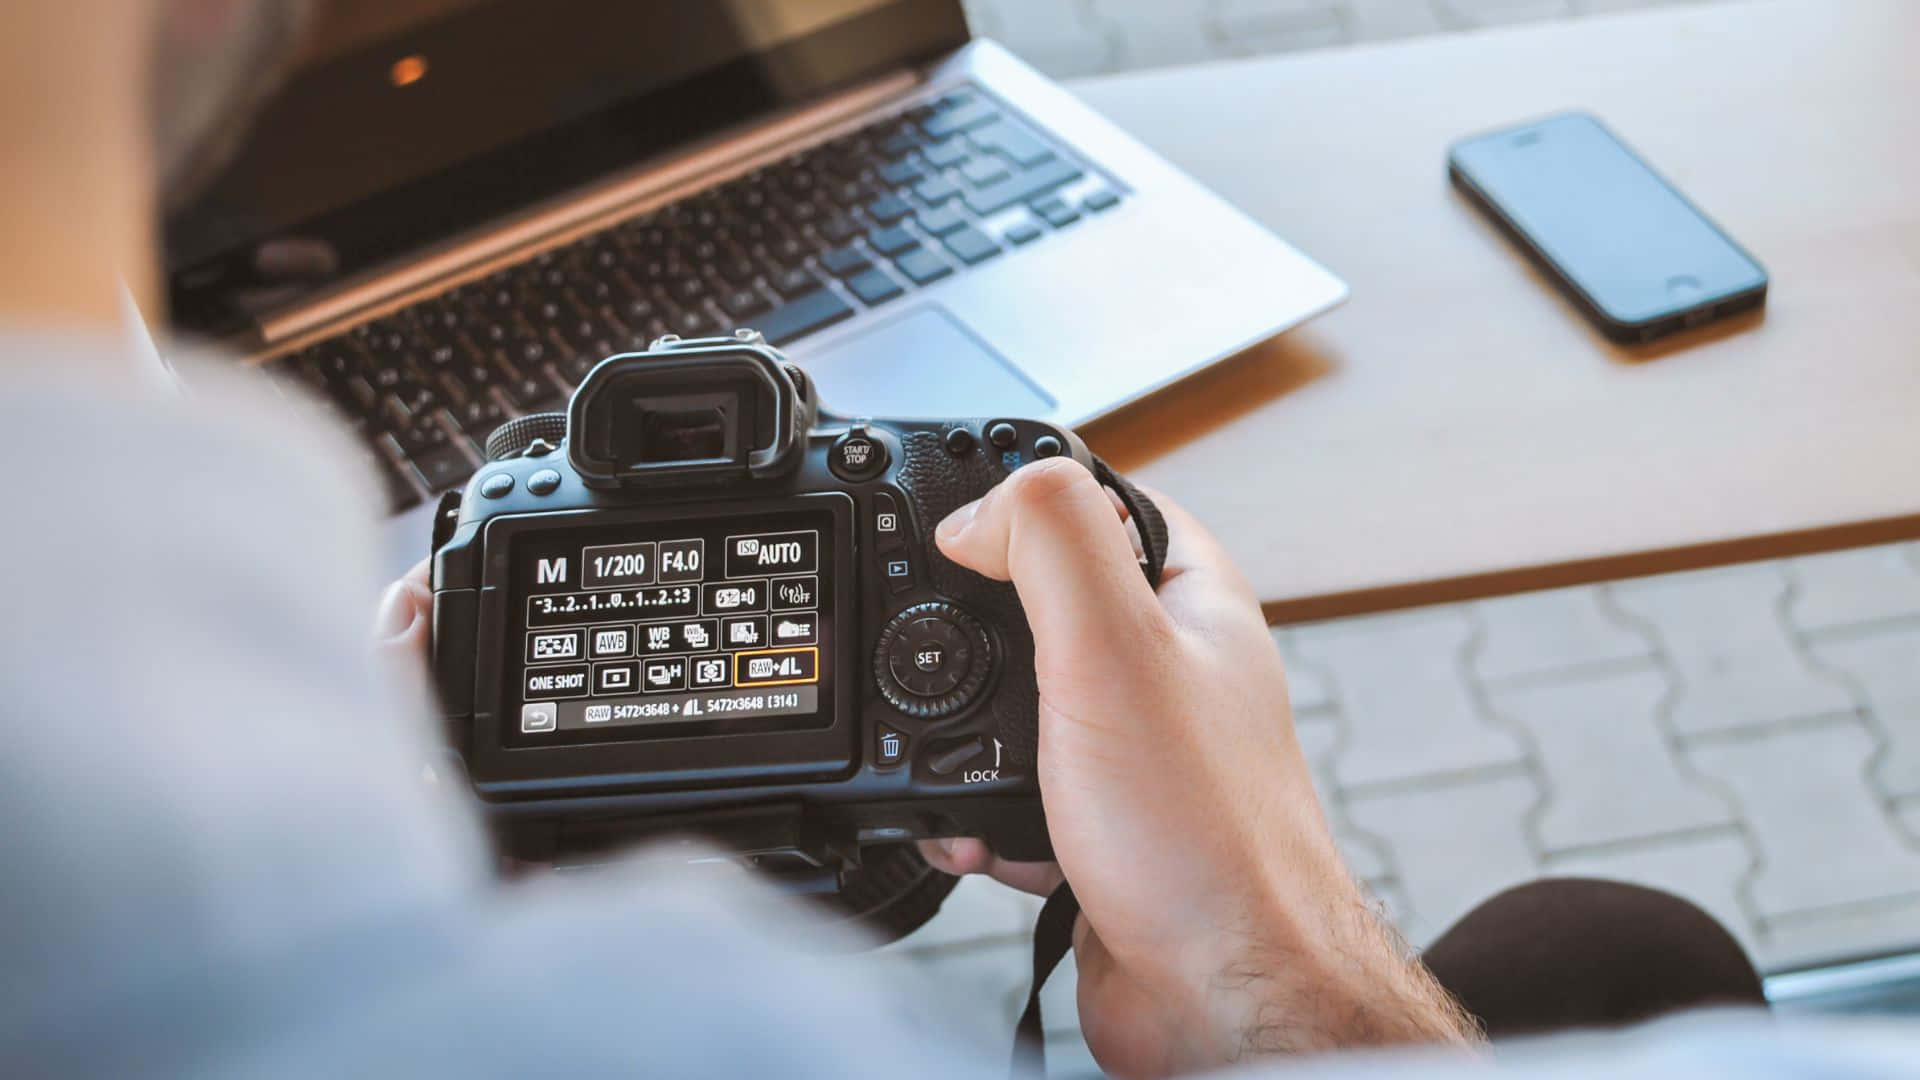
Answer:
POLYGON ((121 281, 154 302, 161 208, 236 144, 313 6, 0 4, 0 319, 117 319, 121 281))

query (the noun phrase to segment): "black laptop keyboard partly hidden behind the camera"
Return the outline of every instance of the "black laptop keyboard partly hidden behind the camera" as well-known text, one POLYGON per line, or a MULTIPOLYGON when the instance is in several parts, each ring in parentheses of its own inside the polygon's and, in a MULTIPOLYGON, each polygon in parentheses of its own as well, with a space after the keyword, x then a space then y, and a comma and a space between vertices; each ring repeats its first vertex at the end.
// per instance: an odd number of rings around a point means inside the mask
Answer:
POLYGON ((457 488, 499 423, 660 334, 780 346, 1119 202, 973 88, 914 106, 271 361, 363 438, 388 509, 457 488), (1023 208, 1016 213, 1014 208, 1023 208), (993 219, 991 223, 987 219, 993 219))

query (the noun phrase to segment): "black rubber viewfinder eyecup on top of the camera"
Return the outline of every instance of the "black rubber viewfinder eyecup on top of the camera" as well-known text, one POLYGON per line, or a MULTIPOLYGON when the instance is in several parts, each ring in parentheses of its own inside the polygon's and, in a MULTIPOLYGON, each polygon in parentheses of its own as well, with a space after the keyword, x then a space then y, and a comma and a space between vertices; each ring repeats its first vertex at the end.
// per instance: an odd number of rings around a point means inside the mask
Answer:
POLYGON ((660 338, 603 359, 566 409, 566 455, 589 488, 724 486, 791 473, 816 405, 756 332, 660 338))

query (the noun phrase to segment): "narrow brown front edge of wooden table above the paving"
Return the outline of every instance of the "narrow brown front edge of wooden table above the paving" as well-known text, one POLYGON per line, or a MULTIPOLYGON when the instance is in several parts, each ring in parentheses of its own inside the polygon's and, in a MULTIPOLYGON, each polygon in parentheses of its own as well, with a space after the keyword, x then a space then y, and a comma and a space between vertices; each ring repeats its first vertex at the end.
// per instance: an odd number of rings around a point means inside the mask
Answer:
POLYGON ((1734 563, 1782 559, 1789 555, 1816 555, 1845 548, 1864 548, 1870 544, 1895 544, 1901 540, 1920 540, 1920 513, 1884 517, 1876 521, 1849 521, 1843 525, 1772 532, 1764 536, 1741 536, 1736 540, 1715 540, 1657 552, 1628 552, 1569 563, 1488 571, 1482 575, 1390 584, 1352 592, 1329 592, 1321 596, 1300 596, 1263 603, 1261 611, 1267 617, 1267 625, 1281 626, 1290 623, 1342 619, 1348 615, 1375 615, 1405 607, 1425 607, 1430 603, 1486 600, 1490 596, 1536 592, 1544 588, 1597 584, 1678 571, 1703 571, 1734 563))

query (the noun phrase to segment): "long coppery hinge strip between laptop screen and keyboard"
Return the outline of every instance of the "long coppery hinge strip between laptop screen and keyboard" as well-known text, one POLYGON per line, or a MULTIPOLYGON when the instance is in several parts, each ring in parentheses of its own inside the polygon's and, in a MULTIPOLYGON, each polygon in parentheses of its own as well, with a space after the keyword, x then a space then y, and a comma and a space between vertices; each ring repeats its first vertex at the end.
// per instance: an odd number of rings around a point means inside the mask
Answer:
POLYGON ((524 261, 545 248, 682 200, 732 175, 785 158, 795 142, 831 138, 860 127, 870 113, 920 83, 922 73, 914 69, 881 75, 812 106, 622 169, 597 184, 436 244, 403 263, 344 281, 296 307, 263 315, 257 344, 267 354, 303 346, 328 336, 340 323, 378 317, 461 281, 524 261))

